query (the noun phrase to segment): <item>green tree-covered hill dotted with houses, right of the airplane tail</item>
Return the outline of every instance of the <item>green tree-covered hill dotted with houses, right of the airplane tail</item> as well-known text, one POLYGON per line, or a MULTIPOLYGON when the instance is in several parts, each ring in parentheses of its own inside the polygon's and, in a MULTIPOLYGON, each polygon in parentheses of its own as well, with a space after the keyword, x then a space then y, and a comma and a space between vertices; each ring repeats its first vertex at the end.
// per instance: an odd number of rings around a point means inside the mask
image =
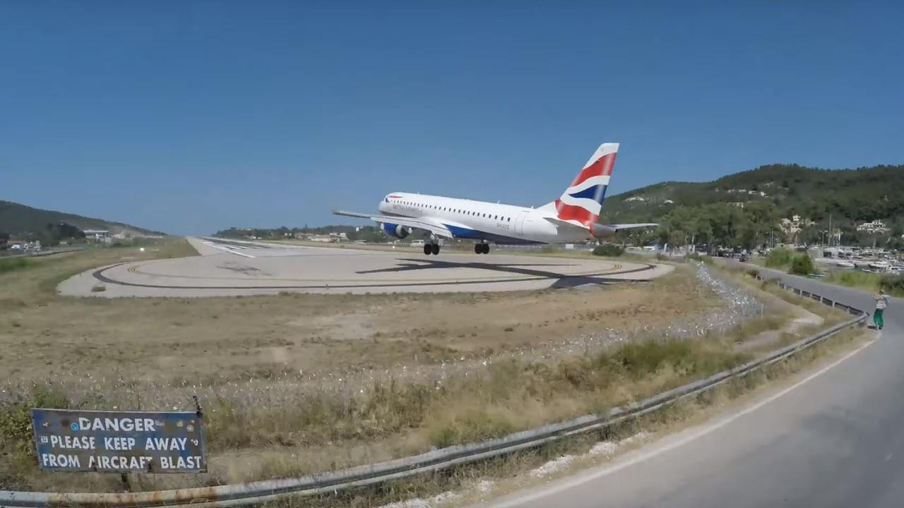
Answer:
POLYGON ((607 197, 606 221, 656 221, 679 205, 769 201, 782 216, 868 221, 904 215, 904 165, 825 170, 763 165, 703 183, 664 182, 607 197))

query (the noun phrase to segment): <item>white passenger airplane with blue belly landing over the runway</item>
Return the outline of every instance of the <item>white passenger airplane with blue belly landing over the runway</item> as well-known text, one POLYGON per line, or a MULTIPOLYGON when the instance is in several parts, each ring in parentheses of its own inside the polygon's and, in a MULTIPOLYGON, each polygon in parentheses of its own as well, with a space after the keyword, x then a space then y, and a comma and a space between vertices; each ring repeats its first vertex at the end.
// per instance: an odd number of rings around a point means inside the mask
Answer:
POLYGON ((439 254, 440 240, 476 240, 474 252, 488 254, 496 245, 571 243, 603 239, 620 230, 658 226, 653 222, 604 224, 599 211, 618 154, 617 143, 603 143, 559 199, 539 208, 479 202, 418 193, 390 193, 380 214, 336 215, 370 219, 391 238, 424 235, 424 254, 439 254))

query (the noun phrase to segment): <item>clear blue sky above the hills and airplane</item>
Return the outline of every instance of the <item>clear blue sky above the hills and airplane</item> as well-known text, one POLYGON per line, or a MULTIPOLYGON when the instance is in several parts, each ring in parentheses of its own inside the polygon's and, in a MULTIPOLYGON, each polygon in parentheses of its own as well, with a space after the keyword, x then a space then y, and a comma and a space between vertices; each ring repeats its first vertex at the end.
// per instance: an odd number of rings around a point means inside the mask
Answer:
MULTIPOLYGON (((0 199, 174 233, 904 163, 904 4, 4 2, 0 199)), ((353 221, 353 220, 346 220, 353 221)), ((362 222, 358 222, 362 223, 362 222)))

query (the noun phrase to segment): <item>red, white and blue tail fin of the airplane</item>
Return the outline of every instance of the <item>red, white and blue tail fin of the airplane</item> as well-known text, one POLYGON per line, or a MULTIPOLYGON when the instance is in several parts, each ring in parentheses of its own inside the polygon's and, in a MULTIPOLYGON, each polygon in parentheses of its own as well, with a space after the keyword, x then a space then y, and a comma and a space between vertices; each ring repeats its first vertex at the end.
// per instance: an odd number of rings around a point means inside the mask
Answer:
POLYGON ((560 220, 579 221, 588 227, 597 222, 616 155, 617 143, 603 143, 590 156, 574 182, 556 200, 560 220))

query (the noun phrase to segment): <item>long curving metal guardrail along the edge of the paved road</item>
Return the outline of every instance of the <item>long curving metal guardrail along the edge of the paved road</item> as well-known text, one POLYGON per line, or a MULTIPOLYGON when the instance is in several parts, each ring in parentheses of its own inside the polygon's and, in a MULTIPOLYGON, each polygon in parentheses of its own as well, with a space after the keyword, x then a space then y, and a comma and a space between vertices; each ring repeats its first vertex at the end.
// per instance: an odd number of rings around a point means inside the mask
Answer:
MULTIPOLYGON (((757 276, 758 279, 763 280, 757 276)), ((506 437, 491 439, 481 443, 459 445, 430 451, 418 456, 410 456, 381 462, 369 466, 358 466, 330 473, 306 475, 284 480, 265 480, 248 484, 216 485, 209 487, 145 493, 36 493, 0 491, 0 508, 37 508, 75 506, 80 508, 151 508, 158 506, 192 506, 193 508, 213 508, 220 506, 240 506, 266 503, 287 496, 332 494, 341 490, 372 484, 380 484, 404 477, 421 475, 451 466, 458 466, 503 456, 523 449, 539 447, 563 437, 569 437, 598 428, 616 424, 622 420, 636 418, 673 403, 676 400, 698 395, 720 386, 726 381, 757 371, 767 365, 779 362, 795 353, 822 342, 843 329, 862 324, 867 314, 862 310, 839 304, 824 296, 819 296, 796 287, 778 282, 778 287, 797 295, 811 297, 827 306, 842 308, 854 315, 840 325, 834 325, 818 334, 769 353, 765 358, 748 362, 728 371, 718 372, 706 379, 693 381, 673 390, 667 390, 628 408, 614 408, 605 415, 587 415, 541 428, 516 432, 506 437)))

